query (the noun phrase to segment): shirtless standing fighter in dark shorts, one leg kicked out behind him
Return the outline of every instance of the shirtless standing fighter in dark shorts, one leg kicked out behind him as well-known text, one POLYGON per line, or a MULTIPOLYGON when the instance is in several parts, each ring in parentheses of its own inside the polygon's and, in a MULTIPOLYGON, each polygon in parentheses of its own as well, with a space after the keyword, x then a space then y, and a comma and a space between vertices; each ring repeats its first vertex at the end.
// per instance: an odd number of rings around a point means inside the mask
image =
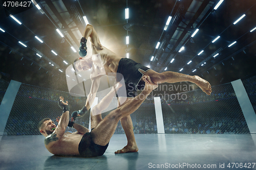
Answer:
MULTIPOLYGON (((119 73, 124 78, 127 94, 125 96, 127 97, 125 98, 126 101, 120 102, 120 99, 123 96, 118 96, 118 103, 123 104, 129 102, 135 97, 133 91, 138 90, 138 85, 144 85, 144 80, 141 79, 144 75, 149 76, 154 84, 188 81, 198 85, 206 94, 210 95, 211 93, 211 86, 209 82, 200 78, 199 76, 189 76, 173 71, 164 71, 162 73, 158 73, 143 66, 142 64, 136 63, 131 59, 119 57, 100 43, 98 34, 92 25, 86 26, 86 30, 84 31, 83 37, 80 41, 79 54, 82 57, 74 61, 74 69, 76 71, 85 71, 92 68, 92 85, 90 93, 88 94, 86 105, 81 110, 72 113, 72 120, 78 118, 79 116, 82 117, 84 113, 90 109, 99 88, 100 78, 102 75, 108 75, 108 73, 119 73), (86 56, 86 43, 89 37, 92 43, 92 56, 86 56)), ((130 114, 122 117, 120 122, 127 138, 127 145, 115 153, 137 152, 138 147, 133 133, 133 123, 130 114)))

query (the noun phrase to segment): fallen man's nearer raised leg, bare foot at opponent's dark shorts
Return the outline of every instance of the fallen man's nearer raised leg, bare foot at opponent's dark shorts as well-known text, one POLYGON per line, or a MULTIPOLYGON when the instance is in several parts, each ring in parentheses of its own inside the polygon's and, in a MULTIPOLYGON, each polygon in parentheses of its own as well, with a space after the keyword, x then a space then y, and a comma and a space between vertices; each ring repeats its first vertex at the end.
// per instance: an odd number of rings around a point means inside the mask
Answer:
POLYGON ((158 87, 151 81, 150 77, 143 76, 143 79, 145 81, 144 90, 136 98, 110 112, 91 132, 94 143, 102 146, 108 144, 115 133, 118 121, 137 110, 151 91, 158 87))

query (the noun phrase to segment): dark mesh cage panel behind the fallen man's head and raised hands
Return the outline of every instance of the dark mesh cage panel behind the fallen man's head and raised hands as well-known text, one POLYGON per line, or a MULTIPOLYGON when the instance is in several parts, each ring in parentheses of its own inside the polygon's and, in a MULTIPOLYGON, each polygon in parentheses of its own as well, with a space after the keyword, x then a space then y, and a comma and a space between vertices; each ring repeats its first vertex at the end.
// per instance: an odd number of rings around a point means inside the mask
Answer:
MULTIPOLYGON (((65 101, 69 102, 71 113, 81 109, 86 101, 86 99, 72 96, 68 92, 27 84, 20 85, 7 120, 4 135, 39 135, 37 124, 41 119, 47 117, 54 120, 57 125, 56 118, 62 114, 62 110, 57 104, 59 96, 63 96, 65 101)), ((76 121, 88 128, 89 115, 76 121)), ((75 132, 70 127, 67 128, 67 131, 75 132)))

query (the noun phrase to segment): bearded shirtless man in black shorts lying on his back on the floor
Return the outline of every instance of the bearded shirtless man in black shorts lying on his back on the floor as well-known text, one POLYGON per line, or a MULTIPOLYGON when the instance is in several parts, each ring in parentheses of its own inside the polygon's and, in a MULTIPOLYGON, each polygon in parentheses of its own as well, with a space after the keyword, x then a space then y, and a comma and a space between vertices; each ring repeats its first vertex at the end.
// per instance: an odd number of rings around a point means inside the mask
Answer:
POLYGON ((58 105, 63 109, 63 113, 59 119, 57 118, 58 126, 50 118, 42 119, 38 124, 38 130, 46 137, 45 147, 47 150, 54 155, 63 156, 96 157, 103 155, 116 130, 118 121, 137 110, 151 91, 158 86, 148 76, 143 76, 143 80, 145 88, 136 98, 111 111, 102 119, 102 109, 108 107, 116 94, 115 91, 122 84, 117 83, 113 86, 112 90, 91 111, 91 113, 96 112, 96 115, 91 115, 91 132, 86 127, 69 121, 68 101, 64 103, 64 99, 60 97, 58 105), (77 132, 65 133, 68 126, 75 128, 77 132))

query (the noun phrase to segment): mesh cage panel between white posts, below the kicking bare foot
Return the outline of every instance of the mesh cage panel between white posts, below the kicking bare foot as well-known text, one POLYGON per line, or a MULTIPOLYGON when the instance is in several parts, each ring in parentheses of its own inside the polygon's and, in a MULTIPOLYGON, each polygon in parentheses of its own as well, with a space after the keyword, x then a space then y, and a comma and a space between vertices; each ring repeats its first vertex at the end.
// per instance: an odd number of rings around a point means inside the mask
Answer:
POLYGON ((182 94, 162 99, 165 133, 249 133, 231 83, 212 87, 211 95, 202 90, 182 94))

